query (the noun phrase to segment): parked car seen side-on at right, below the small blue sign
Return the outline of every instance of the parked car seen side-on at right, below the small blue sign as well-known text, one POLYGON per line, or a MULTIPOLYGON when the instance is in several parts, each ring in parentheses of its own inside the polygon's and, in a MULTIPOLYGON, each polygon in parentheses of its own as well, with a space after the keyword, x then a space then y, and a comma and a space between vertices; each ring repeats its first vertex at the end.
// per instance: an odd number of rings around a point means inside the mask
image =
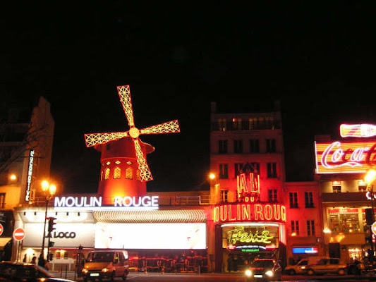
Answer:
POLYGON ((334 258, 318 259, 315 264, 308 264, 303 267, 308 275, 329 273, 345 275, 347 273, 347 264, 342 263, 340 259, 334 258))

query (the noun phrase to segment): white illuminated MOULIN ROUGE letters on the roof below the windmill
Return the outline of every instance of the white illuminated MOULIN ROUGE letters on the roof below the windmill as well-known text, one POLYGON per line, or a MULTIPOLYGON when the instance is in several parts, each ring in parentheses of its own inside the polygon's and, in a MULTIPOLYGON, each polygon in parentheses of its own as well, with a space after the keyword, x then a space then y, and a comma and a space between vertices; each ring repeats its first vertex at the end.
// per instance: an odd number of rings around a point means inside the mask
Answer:
MULTIPOLYGON (((115 197, 113 207, 158 207, 158 198, 115 197)), ((102 207, 102 197, 55 197, 54 207, 102 207)))

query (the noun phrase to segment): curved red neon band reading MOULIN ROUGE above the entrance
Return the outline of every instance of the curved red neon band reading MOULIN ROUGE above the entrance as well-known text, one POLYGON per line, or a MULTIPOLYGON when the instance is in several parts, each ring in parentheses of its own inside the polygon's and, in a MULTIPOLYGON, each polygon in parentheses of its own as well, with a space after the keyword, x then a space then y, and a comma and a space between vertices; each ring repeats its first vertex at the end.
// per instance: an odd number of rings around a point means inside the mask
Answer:
POLYGON ((213 208, 213 221, 286 222, 286 207, 281 204, 221 204, 213 208))

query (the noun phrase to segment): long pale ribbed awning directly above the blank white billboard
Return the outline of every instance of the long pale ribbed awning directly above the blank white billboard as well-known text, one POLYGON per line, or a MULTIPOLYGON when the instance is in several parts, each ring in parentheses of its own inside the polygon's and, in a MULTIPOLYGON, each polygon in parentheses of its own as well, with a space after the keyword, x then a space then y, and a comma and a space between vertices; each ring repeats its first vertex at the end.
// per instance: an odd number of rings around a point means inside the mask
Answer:
POLYGON ((95 221, 116 223, 206 222, 204 209, 151 211, 95 211, 95 221))

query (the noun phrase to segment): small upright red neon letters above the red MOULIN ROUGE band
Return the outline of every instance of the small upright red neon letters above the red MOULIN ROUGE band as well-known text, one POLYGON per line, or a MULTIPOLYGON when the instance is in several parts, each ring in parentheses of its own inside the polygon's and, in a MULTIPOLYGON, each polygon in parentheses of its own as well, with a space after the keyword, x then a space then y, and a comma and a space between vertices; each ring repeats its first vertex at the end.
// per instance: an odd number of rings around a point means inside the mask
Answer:
POLYGON ((260 196, 260 176, 254 173, 250 173, 249 176, 249 185, 245 173, 241 173, 236 181, 238 197, 243 202, 255 202, 257 197, 260 196))

